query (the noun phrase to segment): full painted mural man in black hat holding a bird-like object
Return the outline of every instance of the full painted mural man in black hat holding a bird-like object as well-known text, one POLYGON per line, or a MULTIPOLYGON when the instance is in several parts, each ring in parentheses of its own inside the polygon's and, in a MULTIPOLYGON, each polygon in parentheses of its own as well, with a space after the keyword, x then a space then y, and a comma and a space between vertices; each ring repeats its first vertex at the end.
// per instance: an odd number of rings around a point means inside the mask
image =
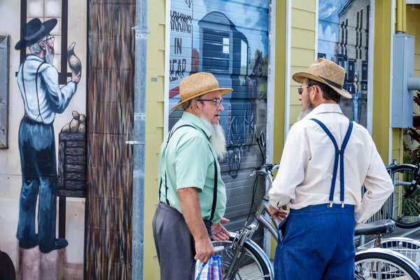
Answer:
POLYGON ((21 248, 39 245, 39 251, 49 253, 69 244, 55 237, 57 205, 57 167, 55 157, 55 113, 62 113, 69 105, 80 80, 72 72, 71 81, 59 87, 58 72, 52 66, 54 36, 50 31, 57 20, 41 22, 34 18, 22 29, 16 50, 29 47, 30 55, 20 64, 18 86, 22 94, 25 116, 19 128, 22 190, 18 233, 21 248), (38 201, 38 233, 35 232, 35 211, 38 201))

